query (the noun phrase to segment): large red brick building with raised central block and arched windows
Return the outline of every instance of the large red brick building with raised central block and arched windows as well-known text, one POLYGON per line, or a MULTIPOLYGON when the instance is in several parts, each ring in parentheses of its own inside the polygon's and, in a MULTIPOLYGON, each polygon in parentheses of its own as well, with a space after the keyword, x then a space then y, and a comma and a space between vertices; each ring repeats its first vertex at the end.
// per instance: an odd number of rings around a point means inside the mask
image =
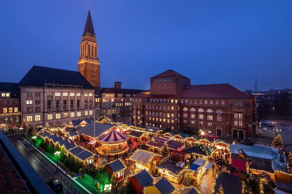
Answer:
POLYGON ((132 97, 131 122, 217 136, 251 139, 256 134, 256 97, 230 84, 191 85, 173 70, 150 78, 150 92, 132 97))

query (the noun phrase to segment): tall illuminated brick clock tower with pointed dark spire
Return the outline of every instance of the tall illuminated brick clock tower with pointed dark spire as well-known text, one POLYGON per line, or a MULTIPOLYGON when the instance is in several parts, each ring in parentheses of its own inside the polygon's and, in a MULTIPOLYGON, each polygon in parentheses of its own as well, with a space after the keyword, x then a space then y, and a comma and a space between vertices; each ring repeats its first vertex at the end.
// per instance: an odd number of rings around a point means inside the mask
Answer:
POLYGON ((96 41, 90 10, 88 10, 84 33, 80 42, 78 71, 93 87, 100 87, 100 63, 98 58, 98 43, 96 41))

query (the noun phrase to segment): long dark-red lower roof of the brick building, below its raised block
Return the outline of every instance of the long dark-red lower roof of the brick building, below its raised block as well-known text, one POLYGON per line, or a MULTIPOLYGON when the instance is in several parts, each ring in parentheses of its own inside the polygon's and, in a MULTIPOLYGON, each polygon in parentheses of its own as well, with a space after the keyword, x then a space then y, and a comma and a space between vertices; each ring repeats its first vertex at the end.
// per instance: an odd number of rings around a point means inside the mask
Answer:
POLYGON ((175 95, 151 95, 149 93, 138 94, 135 98, 188 98, 188 99, 252 99, 241 90, 234 88, 228 83, 193 85, 183 88, 175 95))

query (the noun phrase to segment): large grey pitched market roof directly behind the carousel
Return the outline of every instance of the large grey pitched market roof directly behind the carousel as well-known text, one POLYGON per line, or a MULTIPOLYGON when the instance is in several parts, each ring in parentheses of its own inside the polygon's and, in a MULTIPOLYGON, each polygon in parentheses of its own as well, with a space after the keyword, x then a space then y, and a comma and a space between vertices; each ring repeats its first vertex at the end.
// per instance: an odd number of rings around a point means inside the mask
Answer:
POLYGON ((106 124, 102 124, 102 123, 98 123, 98 122, 92 122, 92 123, 82 127, 81 129, 78 129, 77 132, 84 134, 84 135, 91 136, 93 138, 97 138, 98 136, 100 136, 105 131, 107 131, 111 128, 112 128, 112 126, 110 126, 110 125, 106 125, 106 124), (95 133, 94 133, 94 125, 95 125, 95 133))

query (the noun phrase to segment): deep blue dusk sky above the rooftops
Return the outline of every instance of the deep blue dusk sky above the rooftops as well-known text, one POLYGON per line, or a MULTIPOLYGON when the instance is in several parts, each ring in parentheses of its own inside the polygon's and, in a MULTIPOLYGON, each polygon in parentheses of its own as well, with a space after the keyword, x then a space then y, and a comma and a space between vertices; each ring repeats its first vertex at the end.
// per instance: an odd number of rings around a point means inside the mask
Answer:
POLYGON ((4 1, 0 81, 34 64, 77 71, 88 8, 101 87, 148 89, 172 69, 192 85, 292 88, 292 1, 4 1))

